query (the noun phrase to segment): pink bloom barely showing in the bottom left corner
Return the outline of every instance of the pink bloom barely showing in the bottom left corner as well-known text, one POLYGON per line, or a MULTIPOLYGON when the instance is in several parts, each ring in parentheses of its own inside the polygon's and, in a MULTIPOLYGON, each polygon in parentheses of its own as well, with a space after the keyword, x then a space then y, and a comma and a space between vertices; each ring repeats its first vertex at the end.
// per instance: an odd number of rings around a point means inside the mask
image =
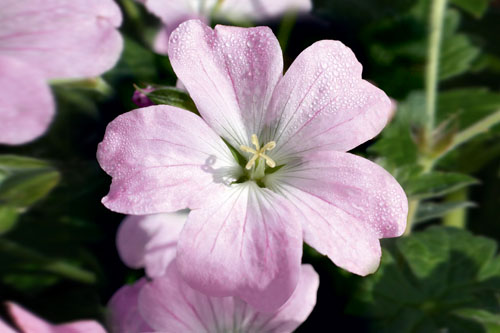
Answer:
MULTIPOLYGON (((7 303, 7 309, 14 323, 21 330, 19 333, 106 333, 106 330, 93 320, 53 325, 15 303, 7 303)), ((16 333, 17 331, 0 320, 0 332, 16 333)))

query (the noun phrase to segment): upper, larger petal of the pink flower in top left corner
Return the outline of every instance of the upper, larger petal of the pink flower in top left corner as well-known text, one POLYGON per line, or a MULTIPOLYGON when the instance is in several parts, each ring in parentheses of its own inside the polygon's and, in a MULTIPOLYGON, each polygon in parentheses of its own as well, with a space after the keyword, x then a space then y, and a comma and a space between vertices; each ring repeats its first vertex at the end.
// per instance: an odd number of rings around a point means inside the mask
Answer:
POLYGON ((17 0, 2 8, 0 54, 46 78, 99 76, 122 50, 119 7, 112 0, 17 0))

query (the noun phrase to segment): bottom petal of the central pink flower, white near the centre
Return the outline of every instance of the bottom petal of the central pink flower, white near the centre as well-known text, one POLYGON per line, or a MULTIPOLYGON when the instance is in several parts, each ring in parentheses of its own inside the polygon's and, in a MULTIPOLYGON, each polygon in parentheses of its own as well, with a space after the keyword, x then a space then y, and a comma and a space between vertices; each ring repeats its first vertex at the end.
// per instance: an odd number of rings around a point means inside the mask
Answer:
POLYGON ((302 255, 300 224, 286 200, 253 182, 191 211, 177 245, 177 264, 195 289, 239 296, 260 311, 290 297, 302 255))

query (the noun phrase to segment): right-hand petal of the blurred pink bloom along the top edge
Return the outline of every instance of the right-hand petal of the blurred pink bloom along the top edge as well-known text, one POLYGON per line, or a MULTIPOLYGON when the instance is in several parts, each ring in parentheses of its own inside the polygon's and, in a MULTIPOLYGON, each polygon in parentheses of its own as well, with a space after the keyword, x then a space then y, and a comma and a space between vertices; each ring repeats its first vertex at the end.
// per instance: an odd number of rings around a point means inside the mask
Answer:
POLYGON ((225 0, 217 16, 233 20, 264 20, 286 12, 308 12, 311 9, 311 0, 225 0))

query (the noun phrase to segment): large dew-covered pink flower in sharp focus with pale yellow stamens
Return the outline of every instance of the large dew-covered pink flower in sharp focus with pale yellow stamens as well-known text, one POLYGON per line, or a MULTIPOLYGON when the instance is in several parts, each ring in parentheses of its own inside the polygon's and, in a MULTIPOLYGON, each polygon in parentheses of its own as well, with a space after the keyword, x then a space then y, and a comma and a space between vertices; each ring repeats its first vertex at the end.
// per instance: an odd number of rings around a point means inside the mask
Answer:
POLYGON ((201 292, 261 311, 295 289, 303 240, 353 273, 374 272, 379 239, 402 234, 408 207, 387 171, 346 153, 391 112, 352 51, 317 42, 283 76, 270 29, 192 20, 172 34, 169 56, 202 118, 152 106, 111 122, 97 153, 113 177, 104 205, 192 209, 177 245, 180 273, 201 292))

